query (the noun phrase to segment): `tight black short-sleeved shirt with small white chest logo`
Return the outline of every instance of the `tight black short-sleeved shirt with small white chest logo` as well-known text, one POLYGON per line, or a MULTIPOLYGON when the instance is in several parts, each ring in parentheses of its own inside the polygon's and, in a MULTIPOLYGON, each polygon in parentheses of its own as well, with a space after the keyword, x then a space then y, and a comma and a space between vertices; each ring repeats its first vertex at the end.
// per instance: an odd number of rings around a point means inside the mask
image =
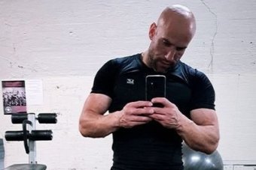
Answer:
MULTIPOLYGON (((145 100, 145 77, 160 74, 142 63, 141 54, 108 61, 96 74, 92 93, 111 97, 108 111, 123 109, 126 103, 145 100)), ((166 76, 166 98, 190 118, 193 109, 215 109, 215 91, 202 72, 178 62, 166 76)), ((182 139, 175 130, 155 121, 113 133, 112 169, 183 169, 182 139)))

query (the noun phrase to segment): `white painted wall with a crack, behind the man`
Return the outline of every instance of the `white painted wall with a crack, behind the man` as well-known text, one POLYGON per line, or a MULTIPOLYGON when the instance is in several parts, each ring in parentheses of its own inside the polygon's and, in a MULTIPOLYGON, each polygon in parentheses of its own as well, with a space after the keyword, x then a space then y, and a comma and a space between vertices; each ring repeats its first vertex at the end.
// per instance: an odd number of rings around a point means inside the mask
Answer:
MULTIPOLYGON (((105 61, 148 48, 149 25, 170 4, 190 7, 197 18, 182 61, 215 86, 224 163, 256 164, 256 1, 1 0, 0 79, 41 79, 44 103, 28 110, 58 114, 57 124, 37 126, 53 130, 53 141, 37 142, 38 163, 109 169, 111 136, 88 139, 78 132, 84 100, 105 61)), ((2 106, 0 127, 0 138, 21 128, 2 106)), ((28 161, 22 142, 4 142, 5 166, 28 161)))

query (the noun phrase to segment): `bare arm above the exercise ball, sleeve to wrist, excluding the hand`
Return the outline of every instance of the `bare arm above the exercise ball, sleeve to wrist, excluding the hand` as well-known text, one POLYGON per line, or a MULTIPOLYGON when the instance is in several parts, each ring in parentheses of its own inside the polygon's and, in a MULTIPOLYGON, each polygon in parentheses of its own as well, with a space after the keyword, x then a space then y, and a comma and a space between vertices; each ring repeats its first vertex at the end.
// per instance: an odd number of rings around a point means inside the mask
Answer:
POLYGON ((191 120, 182 116, 178 134, 190 148, 211 154, 218 147, 219 130, 215 110, 194 109, 190 112, 191 120))

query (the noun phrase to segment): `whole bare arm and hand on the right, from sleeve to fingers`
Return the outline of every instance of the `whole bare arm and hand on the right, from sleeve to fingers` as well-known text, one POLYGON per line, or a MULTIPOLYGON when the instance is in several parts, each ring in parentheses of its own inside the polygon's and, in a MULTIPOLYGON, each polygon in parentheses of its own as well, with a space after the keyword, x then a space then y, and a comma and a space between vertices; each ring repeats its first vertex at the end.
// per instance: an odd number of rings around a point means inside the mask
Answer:
POLYGON ((162 103, 164 107, 154 108, 151 118, 163 127, 175 129, 190 148, 206 154, 215 151, 219 141, 218 118, 215 110, 194 109, 190 112, 190 120, 174 103, 170 103, 165 98, 154 98, 152 102, 162 103))

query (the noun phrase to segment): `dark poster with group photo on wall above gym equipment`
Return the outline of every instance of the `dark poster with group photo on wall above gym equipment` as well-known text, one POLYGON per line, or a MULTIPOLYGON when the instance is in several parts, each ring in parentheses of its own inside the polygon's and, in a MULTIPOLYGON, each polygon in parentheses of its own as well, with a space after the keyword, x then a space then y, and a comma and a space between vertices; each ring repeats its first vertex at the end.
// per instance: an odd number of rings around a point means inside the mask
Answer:
POLYGON ((5 115, 26 113, 25 81, 2 81, 2 97, 5 115))

